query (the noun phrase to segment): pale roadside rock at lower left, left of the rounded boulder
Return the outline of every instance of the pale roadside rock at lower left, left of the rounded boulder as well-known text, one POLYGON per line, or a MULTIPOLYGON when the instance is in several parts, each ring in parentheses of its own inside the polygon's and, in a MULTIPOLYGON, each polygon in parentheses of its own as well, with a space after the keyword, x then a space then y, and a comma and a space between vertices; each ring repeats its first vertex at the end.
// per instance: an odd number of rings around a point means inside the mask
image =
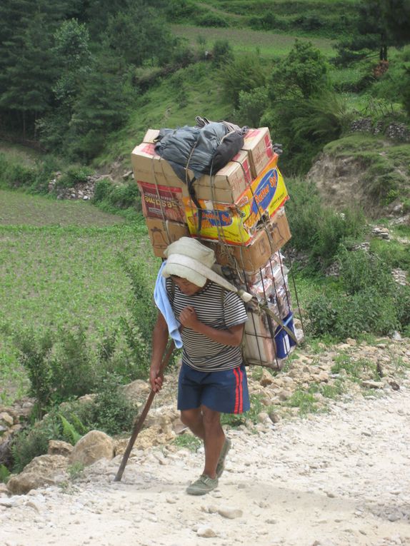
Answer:
POLYGON ((24 495, 31 489, 54 485, 66 480, 69 460, 62 455, 40 455, 24 467, 23 472, 7 482, 7 489, 14 495, 24 495))

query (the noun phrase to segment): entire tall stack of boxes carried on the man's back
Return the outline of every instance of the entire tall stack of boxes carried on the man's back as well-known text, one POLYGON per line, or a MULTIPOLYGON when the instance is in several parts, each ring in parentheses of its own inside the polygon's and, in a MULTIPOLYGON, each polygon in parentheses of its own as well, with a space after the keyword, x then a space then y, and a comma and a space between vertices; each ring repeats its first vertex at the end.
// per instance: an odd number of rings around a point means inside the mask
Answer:
MULTIPOLYGON (((269 129, 250 129, 232 161, 214 176, 194 182, 201 211, 186 183, 156 153, 158 133, 149 129, 131 154, 154 254, 163 258, 169 243, 182 236, 199 238, 213 248, 224 274, 261 303, 249 309, 245 357, 280 368, 294 344, 286 333, 291 334, 293 323, 287 270, 279 252, 291 233, 284 210, 288 194, 269 129)), ((186 179, 193 176, 186 169, 186 179)))

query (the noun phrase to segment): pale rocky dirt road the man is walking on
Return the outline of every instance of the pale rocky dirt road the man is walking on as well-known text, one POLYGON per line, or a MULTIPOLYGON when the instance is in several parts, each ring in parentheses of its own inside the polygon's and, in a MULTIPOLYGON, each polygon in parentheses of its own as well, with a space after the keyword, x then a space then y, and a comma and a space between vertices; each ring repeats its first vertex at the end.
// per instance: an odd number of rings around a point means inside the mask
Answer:
MULTIPOLYGON (((67 487, 0 499, 5 546, 410 545, 410 381, 330 413, 231 430, 219 489, 189 497, 202 453, 99 461, 67 487)), ((174 448, 174 446, 172 446, 174 448)))

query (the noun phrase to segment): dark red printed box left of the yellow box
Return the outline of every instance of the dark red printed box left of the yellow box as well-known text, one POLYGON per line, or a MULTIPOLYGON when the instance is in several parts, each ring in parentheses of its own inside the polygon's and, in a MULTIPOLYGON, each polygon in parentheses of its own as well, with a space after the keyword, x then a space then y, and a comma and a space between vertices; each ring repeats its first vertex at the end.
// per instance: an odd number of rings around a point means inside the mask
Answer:
POLYGON ((142 213, 146 218, 159 218, 185 223, 184 202, 181 188, 156 186, 149 182, 139 182, 142 213))

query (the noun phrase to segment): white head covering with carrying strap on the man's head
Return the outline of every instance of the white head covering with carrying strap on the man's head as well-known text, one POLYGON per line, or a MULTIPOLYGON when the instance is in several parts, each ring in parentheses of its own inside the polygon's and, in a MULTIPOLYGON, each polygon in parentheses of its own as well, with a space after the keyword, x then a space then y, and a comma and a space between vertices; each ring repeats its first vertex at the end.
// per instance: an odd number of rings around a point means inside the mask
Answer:
POLYGON ((226 278, 221 277, 211 268, 215 263, 215 253, 211 248, 204 246, 190 237, 181 237, 178 241, 171 243, 164 251, 166 264, 162 270, 164 277, 177 275, 186 278, 201 288, 205 286, 206 280, 212 280, 226 290, 237 293, 244 301, 252 299, 252 295, 244 290, 238 290, 236 286, 229 283, 226 278))

